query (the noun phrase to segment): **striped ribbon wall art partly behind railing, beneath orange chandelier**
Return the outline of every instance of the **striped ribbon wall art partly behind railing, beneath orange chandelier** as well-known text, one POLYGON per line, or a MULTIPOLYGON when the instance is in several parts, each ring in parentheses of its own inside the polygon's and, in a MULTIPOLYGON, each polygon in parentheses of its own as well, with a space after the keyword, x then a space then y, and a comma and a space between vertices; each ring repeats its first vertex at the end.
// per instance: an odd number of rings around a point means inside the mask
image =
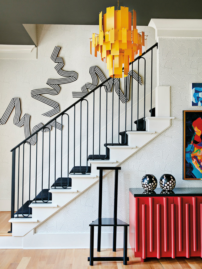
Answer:
MULTIPOLYGON (((86 83, 84 86, 82 86, 81 92, 72 92, 73 97, 81 98, 88 93, 88 89, 93 90, 98 85, 98 77, 101 80, 101 82, 104 82, 106 80, 104 74, 97 66, 91 66, 89 73, 90 73, 91 78, 92 78, 92 83, 86 83)), ((126 87, 126 89, 124 89, 124 92, 122 92, 122 90, 120 89, 119 79, 117 79, 117 78, 114 79, 114 90, 118 94, 118 96, 119 96, 119 91, 120 91, 120 100, 123 103, 125 101, 128 102, 128 100, 129 100, 130 82, 131 82, 132 76, 135 80, 139 81, 140 85, 142 85, 141 76, 139 76, 139 79, 138 79, 137 73, 135 71, 132 72, 132 70, 130 70, 128 72, 128 76, 125 77, 125 80, 126 80, 125 82, 127 83, 126 84, 127 87, 126 87)), ((113 78, 109 79, 106 83, 104 83, 105 90, 107 92, 111 92, 112 85, 113 85, 113 78)))

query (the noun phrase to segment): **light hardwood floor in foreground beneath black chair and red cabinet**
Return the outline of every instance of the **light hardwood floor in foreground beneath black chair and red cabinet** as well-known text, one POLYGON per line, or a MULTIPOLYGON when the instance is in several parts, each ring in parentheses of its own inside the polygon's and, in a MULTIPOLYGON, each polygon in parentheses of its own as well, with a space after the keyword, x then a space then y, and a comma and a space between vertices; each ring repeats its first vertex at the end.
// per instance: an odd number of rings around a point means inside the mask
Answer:
MULTIPOLYGON (((94 254, 97 251, 94 250, 94 254)), ((101 256, 122 256, 123 250, 118 249, 113 253, 111 249, 103 249, 101 256)), ((1 269, 201 269, 201 258, 148 258, 141 263, 139 258, 134 258, 131 249, 128 249, 130 261, 128 265, 119 262, 88 262, 89 249, 1 249, 1 269)))

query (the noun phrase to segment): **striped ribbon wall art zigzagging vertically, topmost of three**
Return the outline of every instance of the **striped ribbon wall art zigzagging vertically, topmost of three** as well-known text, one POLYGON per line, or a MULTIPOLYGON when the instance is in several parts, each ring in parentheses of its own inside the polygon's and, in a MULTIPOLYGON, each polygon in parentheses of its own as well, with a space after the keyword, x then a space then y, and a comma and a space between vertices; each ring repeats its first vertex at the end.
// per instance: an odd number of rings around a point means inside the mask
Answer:
POLYGON ((31 97, 47 104, 53 107, 52 110, 42 114, 47 117, 51 117, 55 115, 56 113, 60 112, 59 104, 53 100, 50 100, 44 96, 41 96, 41 94, 51 94, 51 95, 57 95, 61 88, 60 84, 66 84, 73 82, 78 79, 78 74, 74 71, 64 71, 62 70, 62 67, 64 66, 64 62, 61 57, 57 57, 58 53, 60 51, 61 47, 55 46, 55 49, 53 50, 53 53, 51 55, 51 60, 54 61, 54 63, 57 63, 55 66, 55 70, 58 72, 60 76, 65 76, 64 79, 48 79, 46 84, 52 87, 53 89, 43 88, 43 89, 36 89, 31 91, 31 97))

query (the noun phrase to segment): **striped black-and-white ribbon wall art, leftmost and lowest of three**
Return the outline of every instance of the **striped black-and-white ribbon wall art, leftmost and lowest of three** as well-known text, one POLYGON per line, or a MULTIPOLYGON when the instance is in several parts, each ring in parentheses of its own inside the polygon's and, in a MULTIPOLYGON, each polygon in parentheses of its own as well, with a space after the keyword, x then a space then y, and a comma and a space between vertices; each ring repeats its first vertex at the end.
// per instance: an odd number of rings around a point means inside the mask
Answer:
MULTIPOLYGON (((20 99, 18 97, 14 97, 11 100, 6 111, 4 112, 4 115, 0 119, 0 125, 3 125, 7 122, 14 108, 15 108, 15 116, 13 118, 13 123, 18 127, 24 126, 25 138, 28 138, 30 134, 35 133, 38 129, 40 129, 43 126, 43 123, 40 122, 39 124, 35 125, 32 131, 30 132, 30 115, 25 113, 25 115, 20 119, 21 107, 20 107, 20 99)), ((47 127, 44 128, 44 132, 51 131, 52 126, 55 127, 55 122, 51 122, 49 125, 47 125, 47 127)), ((56 122, 56 128, 61 130, 61 124, 56 122)), ((34 145, 36 143, 36 134, 32 136, 28 140, 28 142, 31 145, 34 145)))

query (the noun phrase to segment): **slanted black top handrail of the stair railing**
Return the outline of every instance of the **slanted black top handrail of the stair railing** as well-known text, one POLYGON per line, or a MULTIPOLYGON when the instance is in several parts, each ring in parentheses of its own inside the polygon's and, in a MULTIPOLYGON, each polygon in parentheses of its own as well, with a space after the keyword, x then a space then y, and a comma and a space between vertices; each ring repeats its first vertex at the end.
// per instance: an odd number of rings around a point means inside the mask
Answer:
MULTIPOLYGON (((131 65, 132 63, 134 63, 135 61, 139 60, 141 57, 144 56, 144 54, 146 54, 147 52, 149 52, 150 50, 152 50, 154 47, 158 48, 158 43, 154 44, 152 47, 150 47, 148 50, 146 50, 145 52, 142 53, 142 55, 138 56, 133 62, 129 63, 129 65, 131 65)), ((124 67, 123 67, 124 69, 124 67)), ((52 120, 50 120, 49 122, 47 122, 45 125, 43 125, 41 128, 39 128, 37 131, 35 131, 33 134, 31 134, 28 138, 25 138, 20 144, 18 144, 17 146, 15 146, 14 148, 12 148, 11 151, 15 150, 16 148, 18 148, 19 146, 21 146, 23 143, 25 143, 27 140, 29 140, 32 136, 34 136, 35 134, 37 134, 38 132, 40 132, 41 130, 43 130, 46 126, 48 126, 51 122, 54 122, 57 118, 59 118, 61 115, 63 115, 66 111, 68 111, 69 109, 71 109, 72 107, 74 107, 76 104, 78 104, 79 102, 81 102, 83 99, 85 99, 89 94, 91 94, 91 92, 94 92, 96 89, 102 87, 106 82, 108 82, 108 80, 112 79, 111 77, 109 77, 108 79, 106 79, 104 82, 100 83, 98 86, 96 86, 94 89, 92 89, 90 92, 88 92, 86 95, 84 95, 83 97, 81 97, 79 100, 77 100, 75 103, 73 103, 72 105, 70 105, 67 109, 63 110, 60 114, 58 114, 57 116, 55 116, 55 118, 53 118, 52 120)))

